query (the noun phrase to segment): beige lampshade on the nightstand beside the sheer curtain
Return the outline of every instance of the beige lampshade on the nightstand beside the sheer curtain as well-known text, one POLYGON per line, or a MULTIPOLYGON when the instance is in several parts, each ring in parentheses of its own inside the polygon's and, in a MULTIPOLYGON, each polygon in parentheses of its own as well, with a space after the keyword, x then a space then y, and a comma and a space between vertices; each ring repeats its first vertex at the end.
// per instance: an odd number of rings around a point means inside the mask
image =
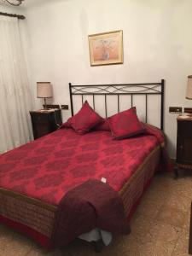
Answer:
POLYGON ((37 97, 38 98, 52 98, 53 90, 50 82, 37 83, 37 97))

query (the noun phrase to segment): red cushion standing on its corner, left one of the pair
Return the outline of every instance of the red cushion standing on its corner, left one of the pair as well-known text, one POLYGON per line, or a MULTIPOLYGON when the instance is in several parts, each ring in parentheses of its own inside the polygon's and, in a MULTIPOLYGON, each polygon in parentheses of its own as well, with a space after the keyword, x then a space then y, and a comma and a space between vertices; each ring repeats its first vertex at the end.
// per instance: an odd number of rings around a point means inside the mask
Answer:
POLYGON ((84 105, 79 112, 67 121, 67 123, 73 127, 74 131, 80 134, 90 131, 91 128, 100 122, 102 122, 102 117, 90 108, 87 101, 84 102, 84 105))

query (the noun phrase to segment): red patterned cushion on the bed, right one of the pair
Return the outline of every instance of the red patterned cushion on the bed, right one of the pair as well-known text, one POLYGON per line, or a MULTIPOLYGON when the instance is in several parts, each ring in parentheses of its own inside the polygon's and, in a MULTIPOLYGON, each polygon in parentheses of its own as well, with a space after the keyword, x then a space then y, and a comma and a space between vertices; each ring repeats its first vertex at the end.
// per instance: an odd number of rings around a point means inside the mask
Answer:
POLYGON ((135 136, 145 131, 143 124, 137 118, 136 108, 116 113, 108 119, 108 122, 116 139, 135 136))

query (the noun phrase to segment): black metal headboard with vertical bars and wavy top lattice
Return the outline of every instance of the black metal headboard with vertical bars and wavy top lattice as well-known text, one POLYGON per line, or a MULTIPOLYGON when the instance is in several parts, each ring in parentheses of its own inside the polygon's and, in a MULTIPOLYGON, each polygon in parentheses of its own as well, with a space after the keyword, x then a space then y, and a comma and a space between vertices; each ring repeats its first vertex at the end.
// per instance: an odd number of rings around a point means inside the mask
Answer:
POLYGON ((145 121, 148 122, 148 96, 160 95, 160 129, 164 128, 164 79, 160 83, 144 84, 84 84, 73 85, 69 83, 71 112, 73 115, 73 96, 81 96, 82 105, 84 96, 93 97, 93 108, 95 109, 95 96, 102 95, 105 97, 105 115, 108 116, 107 96, 115 95, 118 99, 119 112, 119 95, 131 96, 131 107, 133 107, 133 97, 137 95, 145 96, 145 121))

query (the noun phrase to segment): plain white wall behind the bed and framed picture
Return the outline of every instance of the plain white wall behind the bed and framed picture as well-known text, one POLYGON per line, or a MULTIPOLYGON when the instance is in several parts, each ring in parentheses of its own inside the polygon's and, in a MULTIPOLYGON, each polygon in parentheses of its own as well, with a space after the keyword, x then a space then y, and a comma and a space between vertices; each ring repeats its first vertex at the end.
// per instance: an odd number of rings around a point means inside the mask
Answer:
MULTIPOLYGON (((25 4, 24 4, 25 7, 25 4)), ((166 79, 165 131, 175 157, 176 114, 192 73, 191 0, 46 0, 26 6, 32 84, 49 80, 54 102, 69 104, 68 82, 137 83, 166 79), (89 34, 122 29, 124 64, 90 67, 89 34)), ((37 108, 40 106, 37 100, 37 108)), ((64 119, 70 112, 63 112, 64 119)))

